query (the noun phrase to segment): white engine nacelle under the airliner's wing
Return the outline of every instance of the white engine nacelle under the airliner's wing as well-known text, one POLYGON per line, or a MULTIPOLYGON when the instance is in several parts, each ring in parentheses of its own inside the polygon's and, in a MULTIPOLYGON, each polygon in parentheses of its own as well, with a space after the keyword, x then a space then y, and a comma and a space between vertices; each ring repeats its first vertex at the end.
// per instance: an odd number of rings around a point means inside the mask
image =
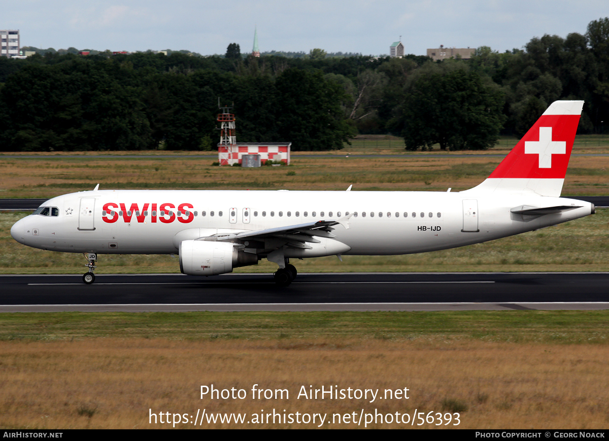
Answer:
POLYGON ((239 266, 257 265, 258 256, 239 250, 230 242, 181 241, 180 271, 188 275, 233 272, 239 266))

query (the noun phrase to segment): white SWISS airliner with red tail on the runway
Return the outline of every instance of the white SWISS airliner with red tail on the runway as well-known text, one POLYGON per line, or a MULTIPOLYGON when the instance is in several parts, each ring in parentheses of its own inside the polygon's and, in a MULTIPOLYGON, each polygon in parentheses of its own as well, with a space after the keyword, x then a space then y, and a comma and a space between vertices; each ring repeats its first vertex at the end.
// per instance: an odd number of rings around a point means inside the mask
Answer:
POLYGON ((289 259, 422 253, 491 241, 594 213, 560 197, 583 101, 556 101, 480 185, 420 191, 82 191, 54 197, 10 230, 21 244, 97 254, 175 254, 188 275, 289 259))

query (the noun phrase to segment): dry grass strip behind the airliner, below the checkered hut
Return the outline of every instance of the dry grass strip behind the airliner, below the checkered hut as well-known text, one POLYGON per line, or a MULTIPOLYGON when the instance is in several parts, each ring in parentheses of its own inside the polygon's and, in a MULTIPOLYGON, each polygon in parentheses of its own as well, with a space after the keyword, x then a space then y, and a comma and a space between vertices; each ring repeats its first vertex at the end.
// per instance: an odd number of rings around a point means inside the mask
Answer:
MULTIPOLYGON (((605 152, 605 150, 602 150, 605 152)), ((475 152, 474 154, 479 153, 475 152)), ((507 153, 492 150, 488 153, 507 153)), ((460 154, 460 153, 456 153, 460 154)), ((393 155, 382 158, 311 158, 294 155, 288 167, 213 166, 213 161, 173 155, 169 158, 78 158, 40 156, 2 158, 1 198, 44 198, 88 189, 264 189, 354 191, 453 191, 482 182, 500 157, 393 155)), ((608 157, 572 157, 563 194, 607 194, 608 157)))

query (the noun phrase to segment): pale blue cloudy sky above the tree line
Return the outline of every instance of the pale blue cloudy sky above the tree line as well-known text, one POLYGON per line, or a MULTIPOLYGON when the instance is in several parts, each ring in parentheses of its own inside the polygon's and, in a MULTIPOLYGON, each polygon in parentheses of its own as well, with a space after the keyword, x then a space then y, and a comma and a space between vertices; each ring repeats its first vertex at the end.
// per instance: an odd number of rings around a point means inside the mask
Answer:
POLYGON ((401 40, 423 55, 440 44, 522 48, 532 37, 584 34, 609 16, 607 0, 19 0, 5 2, 0 29, 19 29, 22 46, 111 51, 188 49, 389 53, 401 40))

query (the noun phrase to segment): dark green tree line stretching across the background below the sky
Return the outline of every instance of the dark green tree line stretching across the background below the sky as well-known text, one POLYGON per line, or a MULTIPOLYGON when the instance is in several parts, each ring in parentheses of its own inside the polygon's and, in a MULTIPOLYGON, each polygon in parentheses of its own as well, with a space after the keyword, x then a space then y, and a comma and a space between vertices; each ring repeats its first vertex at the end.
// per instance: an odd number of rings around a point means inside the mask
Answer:
POLYGON ((233 107, 239 142, 328 150, 357 133, 392 133, 409 150, 486 149, 500 133, 523 135, 557 99, 586 102, 579 133, 609 123, 609 18, 585 35, 442 62, 321 49, 244 58, 234 43, 224 57, 0 57, 0 150, 211 150, 218 100, 233 107))

